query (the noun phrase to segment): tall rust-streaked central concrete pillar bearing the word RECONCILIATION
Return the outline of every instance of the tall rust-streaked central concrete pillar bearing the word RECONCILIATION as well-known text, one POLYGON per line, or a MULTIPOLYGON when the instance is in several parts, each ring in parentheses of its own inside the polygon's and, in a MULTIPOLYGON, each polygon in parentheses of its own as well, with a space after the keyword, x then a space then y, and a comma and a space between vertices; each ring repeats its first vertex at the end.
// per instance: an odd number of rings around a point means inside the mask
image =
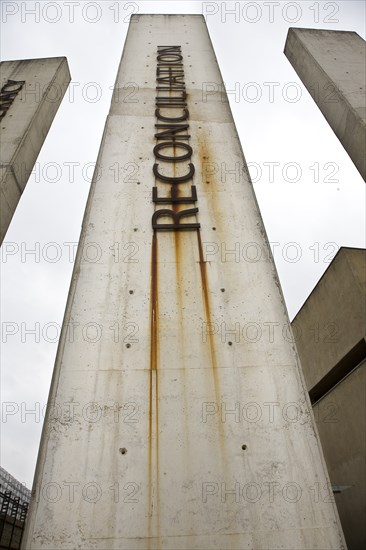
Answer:
POLYGON ((24 547, 344 548, 204 18, 133 17, 24 547))

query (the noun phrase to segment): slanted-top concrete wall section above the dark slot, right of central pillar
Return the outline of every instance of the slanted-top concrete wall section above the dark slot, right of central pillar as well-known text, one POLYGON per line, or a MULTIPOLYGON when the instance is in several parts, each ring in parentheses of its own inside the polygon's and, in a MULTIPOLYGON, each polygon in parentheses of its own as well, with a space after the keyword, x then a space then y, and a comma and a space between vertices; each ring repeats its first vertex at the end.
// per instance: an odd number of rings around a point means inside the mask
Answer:
POLYGON ((341 248, 292 321, 309 390, 366 334, 366 251, 341 248))

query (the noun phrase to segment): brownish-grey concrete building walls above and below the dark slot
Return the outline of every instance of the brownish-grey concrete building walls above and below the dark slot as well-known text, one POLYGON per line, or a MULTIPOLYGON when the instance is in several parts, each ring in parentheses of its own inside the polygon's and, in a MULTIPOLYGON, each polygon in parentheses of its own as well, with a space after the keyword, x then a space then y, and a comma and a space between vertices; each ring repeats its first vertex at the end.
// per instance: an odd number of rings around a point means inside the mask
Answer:
MULTIPOLYGON (((366 335, 366 251, 341 248, 293 320, 309 391, 366 335)), ((357 363, 357 361, 356 361, 357 363)), ((350 549, 366 545, 366 361, 314 405, 350 549)))

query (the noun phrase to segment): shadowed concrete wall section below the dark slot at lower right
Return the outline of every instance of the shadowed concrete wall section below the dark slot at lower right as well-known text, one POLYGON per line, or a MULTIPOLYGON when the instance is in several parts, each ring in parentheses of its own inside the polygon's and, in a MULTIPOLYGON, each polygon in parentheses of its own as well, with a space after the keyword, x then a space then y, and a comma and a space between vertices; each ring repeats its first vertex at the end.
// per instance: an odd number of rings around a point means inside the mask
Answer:
POLYGON ((366 361, 314 406, 349 550, 366 545, 366 361))

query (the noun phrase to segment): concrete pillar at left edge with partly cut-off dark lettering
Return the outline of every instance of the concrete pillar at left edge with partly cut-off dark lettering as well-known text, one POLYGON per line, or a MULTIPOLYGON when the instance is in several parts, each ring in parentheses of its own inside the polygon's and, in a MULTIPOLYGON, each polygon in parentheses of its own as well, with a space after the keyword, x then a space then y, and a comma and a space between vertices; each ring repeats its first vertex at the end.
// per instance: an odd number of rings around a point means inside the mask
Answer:
POLYGON ((0 123, 0 243, 69 82, 65 57, 0 64, 0 88, 4 90, 1 103, 5 113, 0 123), (7 92, 14 90, 19 91, 9 97, 7 92))

